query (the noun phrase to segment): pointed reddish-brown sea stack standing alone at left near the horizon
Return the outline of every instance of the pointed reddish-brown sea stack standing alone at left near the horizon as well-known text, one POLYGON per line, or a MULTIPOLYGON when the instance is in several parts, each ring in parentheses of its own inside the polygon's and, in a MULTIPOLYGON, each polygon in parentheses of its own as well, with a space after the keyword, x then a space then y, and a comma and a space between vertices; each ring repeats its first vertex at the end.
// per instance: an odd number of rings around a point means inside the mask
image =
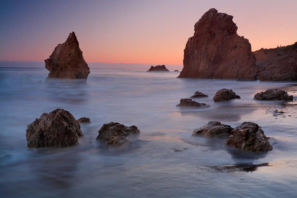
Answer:
POLYGON ((50 58, 44 61, 45 68, 50 71, 48 78, 86 79, 90 73, 74 32, 63 44, 55 47, 50 58))

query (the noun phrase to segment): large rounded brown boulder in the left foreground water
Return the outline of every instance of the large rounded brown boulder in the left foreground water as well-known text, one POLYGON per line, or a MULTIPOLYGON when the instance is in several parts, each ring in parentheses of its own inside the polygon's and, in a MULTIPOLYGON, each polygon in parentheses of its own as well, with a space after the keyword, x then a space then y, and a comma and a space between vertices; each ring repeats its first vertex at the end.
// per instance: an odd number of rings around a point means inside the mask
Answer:
POLYGON ((79 123, 64 109, 43 113, 27 127, 26 138, 29 148, 73 146, 78 144, 78 138, 83 137, 79 123))

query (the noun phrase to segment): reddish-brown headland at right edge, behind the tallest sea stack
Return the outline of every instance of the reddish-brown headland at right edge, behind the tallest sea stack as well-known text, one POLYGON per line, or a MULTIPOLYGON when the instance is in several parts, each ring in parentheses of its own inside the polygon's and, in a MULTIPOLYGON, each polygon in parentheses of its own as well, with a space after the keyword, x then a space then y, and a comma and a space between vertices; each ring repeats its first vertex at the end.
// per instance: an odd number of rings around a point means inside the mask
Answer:
POLYGON ((259 66, 259 80, 297 80, 297 42, 285 47, 254 52, 259 66))

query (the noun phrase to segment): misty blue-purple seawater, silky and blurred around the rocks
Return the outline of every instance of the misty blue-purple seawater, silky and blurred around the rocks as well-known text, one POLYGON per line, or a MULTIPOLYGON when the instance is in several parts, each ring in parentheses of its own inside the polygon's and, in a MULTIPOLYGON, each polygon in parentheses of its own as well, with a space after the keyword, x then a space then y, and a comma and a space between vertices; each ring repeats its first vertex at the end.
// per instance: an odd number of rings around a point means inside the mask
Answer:
MULTIPOLYGON (((0 197, 296 197, 297 102, 253 99, 257 92, 294 83, 178 74, 91 69, 86 83, 44 83, 46 69, 0 68, 0 197), (214 103, 221 88, 241 99, 214 103), (209 96, 195 100, 210 108, 176 107, 195 91, 209 96), (91 119, 81 125, 80 145, 28 149, 27 125, 56 108, 91 119), (285 114, 273 116, 276 109, 285 114), (99 128, 112 121, 136 125, 139 140, 128 148, 96 142, 99 128), (242 152, 226 148, 223 140, 191 136, 208 121, 233 128, 253 121, 274 149, 242 152)), ((296 99, 296 88, 286 90, 296 99)))

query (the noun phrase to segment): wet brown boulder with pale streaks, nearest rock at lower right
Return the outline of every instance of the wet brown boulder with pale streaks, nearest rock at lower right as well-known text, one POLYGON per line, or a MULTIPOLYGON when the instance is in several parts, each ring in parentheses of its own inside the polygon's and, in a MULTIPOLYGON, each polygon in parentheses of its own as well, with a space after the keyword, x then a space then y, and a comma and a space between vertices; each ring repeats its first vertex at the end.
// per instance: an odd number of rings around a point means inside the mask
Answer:
POLYGON ((244 122, 231 131, 226 144, 246 151, 270 151, 272 145, 256 123, 244 122))

